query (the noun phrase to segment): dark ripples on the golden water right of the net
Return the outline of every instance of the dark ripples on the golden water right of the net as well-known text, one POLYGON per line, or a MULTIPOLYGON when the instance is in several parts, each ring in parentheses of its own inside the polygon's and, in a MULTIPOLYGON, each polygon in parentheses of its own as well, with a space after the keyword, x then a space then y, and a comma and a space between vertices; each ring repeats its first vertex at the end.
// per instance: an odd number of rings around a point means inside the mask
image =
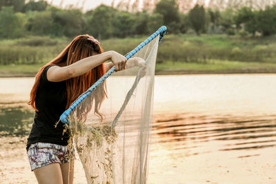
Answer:
POLYGON ((172 150, 201 149, 204 153, 250 150, 276 146, 275 121, 276 115, 212 117, 177 114, 166 117, 157 114, 152 132, 155 143, 170 143, 172 150), (218 146, 214 149, 210 144, 218 146))

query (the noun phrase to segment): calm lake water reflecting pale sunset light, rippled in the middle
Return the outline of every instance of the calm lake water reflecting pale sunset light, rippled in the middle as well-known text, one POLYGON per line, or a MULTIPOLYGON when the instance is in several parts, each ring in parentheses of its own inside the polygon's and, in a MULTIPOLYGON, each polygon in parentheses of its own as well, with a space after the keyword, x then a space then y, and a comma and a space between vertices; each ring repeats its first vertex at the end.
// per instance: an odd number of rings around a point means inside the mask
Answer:
MULTIPOLYGON (((32 78, 0 79, 0 136, 26 136, 32 78)), ((149 183, 276 183, 276 74, 156 76, 149 183)))

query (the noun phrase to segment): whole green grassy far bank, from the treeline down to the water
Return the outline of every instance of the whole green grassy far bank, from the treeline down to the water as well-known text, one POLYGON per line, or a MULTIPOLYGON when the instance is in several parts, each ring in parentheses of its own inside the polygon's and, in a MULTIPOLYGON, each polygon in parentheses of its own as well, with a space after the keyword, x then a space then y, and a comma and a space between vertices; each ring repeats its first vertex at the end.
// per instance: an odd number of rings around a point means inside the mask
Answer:
MULTIPOLYGON (((100 41, 103 50, 127 54, 147 36, 100 41)), ((34 76, 70 43, 66 38, 0 41, 0 76, 34 76)), ((159 45, 157 74, 275 72, 276 36, 168 34, 159 45)))

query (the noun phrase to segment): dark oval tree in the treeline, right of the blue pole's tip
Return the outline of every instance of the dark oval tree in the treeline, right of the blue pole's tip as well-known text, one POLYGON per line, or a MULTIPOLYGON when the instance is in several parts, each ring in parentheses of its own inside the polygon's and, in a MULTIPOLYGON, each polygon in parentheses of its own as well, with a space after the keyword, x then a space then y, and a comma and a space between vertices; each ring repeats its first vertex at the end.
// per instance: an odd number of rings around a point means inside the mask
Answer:
POLYGON ((205 28, 205 9, 198 4, 189 12, 190 25, 195 30, 197 35, 205 28))

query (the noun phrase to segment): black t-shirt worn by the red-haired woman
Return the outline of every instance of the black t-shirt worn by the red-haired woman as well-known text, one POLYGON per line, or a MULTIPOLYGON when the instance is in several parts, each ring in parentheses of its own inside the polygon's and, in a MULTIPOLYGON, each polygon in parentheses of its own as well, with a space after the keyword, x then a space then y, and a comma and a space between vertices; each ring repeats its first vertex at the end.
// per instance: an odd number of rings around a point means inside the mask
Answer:
POLYGON ((69 134, 63 134, 63 123, 59 117, 66 110, 67 92, 66 81, 50 82, 47 79, 47 71, 52 65, 48 65, 41 74, 39 88, 35 97, 34 123, 28 137, 27 150, 32 143, 54 143, 68 145, 69 134))

